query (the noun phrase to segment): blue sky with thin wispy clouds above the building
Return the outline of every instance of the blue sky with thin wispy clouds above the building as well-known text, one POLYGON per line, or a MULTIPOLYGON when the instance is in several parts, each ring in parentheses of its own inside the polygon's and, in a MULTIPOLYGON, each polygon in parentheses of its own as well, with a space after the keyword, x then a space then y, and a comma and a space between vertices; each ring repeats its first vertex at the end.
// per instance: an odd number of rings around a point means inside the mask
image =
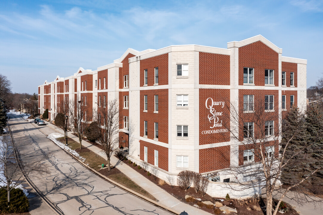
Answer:
POLYGON ((307 87, 323 77, 323 1, 1 1, 0 73, 13 92, 79 67, 95 70, 128 49, 227 42, 261 34, 283 56, 307 59, 307 87))

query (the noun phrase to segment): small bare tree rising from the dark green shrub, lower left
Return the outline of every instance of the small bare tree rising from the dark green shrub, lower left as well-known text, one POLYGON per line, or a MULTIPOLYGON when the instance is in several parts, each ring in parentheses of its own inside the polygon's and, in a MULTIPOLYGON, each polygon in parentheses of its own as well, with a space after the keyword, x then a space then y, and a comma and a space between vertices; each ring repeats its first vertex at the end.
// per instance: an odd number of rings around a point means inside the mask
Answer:
POLYGON ((10 191, 23 183, 31 174, 43 175, 49 173, 48 166, 43 162, 48 154, 40 159, 28 162, 19 155, 19 144, 14 143, 9 135, 0 136, 0 177, 1 188, 7 190, 7 201, 10 202, 10 191), (14 182, 15 181, 15 182, 14 182))

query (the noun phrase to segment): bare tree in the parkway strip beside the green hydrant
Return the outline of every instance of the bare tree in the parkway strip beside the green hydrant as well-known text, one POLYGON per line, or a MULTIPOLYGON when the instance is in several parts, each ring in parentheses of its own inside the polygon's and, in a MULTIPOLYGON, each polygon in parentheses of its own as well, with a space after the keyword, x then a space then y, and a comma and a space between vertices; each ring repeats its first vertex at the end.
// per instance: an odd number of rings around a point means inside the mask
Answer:
POLYGON ((110 171, 110 158, 119 146, 120 120, 117 99, 109 100, 107 104, 103 104, 103 107, 98 109, 97 122, 98 129, 93 132, 95 132, 99 144, 103 146, 103 151, 107 156, 108 171, 110 171))

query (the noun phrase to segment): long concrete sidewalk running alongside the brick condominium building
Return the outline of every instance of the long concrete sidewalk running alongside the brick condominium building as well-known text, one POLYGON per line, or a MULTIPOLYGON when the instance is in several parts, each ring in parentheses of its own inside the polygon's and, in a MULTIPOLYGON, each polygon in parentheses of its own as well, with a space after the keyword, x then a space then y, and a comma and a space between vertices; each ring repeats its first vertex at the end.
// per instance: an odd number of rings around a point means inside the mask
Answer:
MULTIPOLYGON (((64 134, 63 130, 58 128, 57 126, 48 123, 47 126, 52 128, 54 131, 64 134)), ((47 134, 48 135, 48 134, 47 134)), ((72 138, 74 141, 78 141, 78 137, 72 134, 72 132, 68 132, 68 137, 72 138)), ((92 144, 88 143, 87 141, 82 141, 82 146, 85 148, 90 149, 91 151, 95 152, 99 156, 101 156, 104 159, 107 159, 107 156, 102 152, 102 150, 96 146, 93 146, 92 144)), ((182 212, 185 210, 189 215, 193 214, 205 214, 209 215, 210 213, 205 212, 204 210, 192 207, 188 204, 185 204, 181 202, 180 200, 173 197, 171 194, 166 192, 165 190, 161 189, 159 186, 151 182, 150 180, 146 179, 144 176, 142 176, 140 173, 129 167, 127 164, 124 164, 123 162, 120 162, 119 159, 117 159, 115 156, 111 156, 111 165, 115 166, 117 169, 119 169, 123 174, 128 176, 131 180, 133 180, 135 183, 137 183, 139 186, 141 186, 143 189, 145 189, 147 192, 149 192, 153 197, 155 197, 159 203, 162 205, 172 208, 173 210, 182 212)))

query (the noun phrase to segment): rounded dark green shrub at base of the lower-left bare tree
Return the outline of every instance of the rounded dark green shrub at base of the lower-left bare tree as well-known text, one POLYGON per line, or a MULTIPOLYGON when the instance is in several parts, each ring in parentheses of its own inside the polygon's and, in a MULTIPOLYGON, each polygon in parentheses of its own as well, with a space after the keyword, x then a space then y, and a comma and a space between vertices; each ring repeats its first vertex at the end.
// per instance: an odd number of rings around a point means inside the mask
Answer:
POLYGON ((7 190, 0 188, 0 210, 2 213, 24 213, 28 212, 29 202, 21 189, 15 188, 10 191, 10 202, 8 207, 7 190))

